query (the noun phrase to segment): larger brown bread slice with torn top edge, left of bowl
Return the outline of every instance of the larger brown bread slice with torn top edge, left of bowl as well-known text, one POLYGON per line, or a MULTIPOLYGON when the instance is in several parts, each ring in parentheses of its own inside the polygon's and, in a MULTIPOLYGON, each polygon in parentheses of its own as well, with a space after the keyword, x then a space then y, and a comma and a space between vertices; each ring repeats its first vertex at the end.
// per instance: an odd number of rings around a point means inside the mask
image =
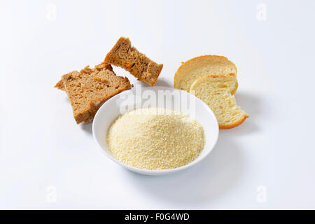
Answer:
POLYGON ((110 64, 72 71, 62 76, 55 87, 64 90, 71 102, 76 123, 92 122, 95 113, 109 98, 131 88, 128 78, 116 76, 110 64))

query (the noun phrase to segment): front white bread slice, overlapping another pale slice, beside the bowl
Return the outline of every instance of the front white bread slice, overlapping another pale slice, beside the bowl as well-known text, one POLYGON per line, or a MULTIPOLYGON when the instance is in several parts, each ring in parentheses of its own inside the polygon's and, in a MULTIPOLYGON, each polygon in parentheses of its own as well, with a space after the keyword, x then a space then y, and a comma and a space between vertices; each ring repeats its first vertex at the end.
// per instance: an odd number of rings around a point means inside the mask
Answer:
POLYGON ((190 93, 208 104, 221 129, 230 129, 248 118, 235 102, 233 94, 237 85, 234 73, 227 76, 204 76, 195 80, 190 87, 190 93))

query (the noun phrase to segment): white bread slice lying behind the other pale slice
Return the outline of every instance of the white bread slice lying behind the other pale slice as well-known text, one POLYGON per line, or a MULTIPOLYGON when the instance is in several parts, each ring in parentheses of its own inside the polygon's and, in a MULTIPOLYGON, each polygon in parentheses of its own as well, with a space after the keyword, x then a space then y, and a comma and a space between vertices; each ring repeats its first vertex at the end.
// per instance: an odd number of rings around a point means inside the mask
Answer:
POLYGON ((174 76, 174 87, 189 92, 190 86, 202 76, 225 76, 234 73, 237 68, 228 58, 216 55, 195 57, 183 63, 174 76))

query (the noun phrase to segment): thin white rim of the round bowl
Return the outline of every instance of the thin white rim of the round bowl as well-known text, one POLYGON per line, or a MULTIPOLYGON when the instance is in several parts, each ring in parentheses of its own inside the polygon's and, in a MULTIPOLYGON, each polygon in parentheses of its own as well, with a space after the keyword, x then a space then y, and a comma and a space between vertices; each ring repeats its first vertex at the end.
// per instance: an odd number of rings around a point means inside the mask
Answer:
MULTIPOLYGON (((94 121, 97 120, 97 118, 100 116, 100 113, 99 111, 101 111, 101 108, 108 102, 111 102, 111 101, 115 101, 118 97, 120 97, 119 95, 120 94, 127 94, 127 92, 132 92, 132 91, 135 91, 135 88, 134 89, 130 89, 130 90, 125 90, 123 92, 120 92, 119 94, 116 94, 115 96, 111 97, 110 99, 108 99, 106 102, 104 102, 104 104, 97 110, 97 113, 95 114, 94 116, 94 119, 93 119, 93 123, 92 123, 92 134, 93 134, 93 139, 94 141, 96 141, 97 143, 97 146, 99 148, 99 150, 101 150, 107 158, 111 159, 113 162, 116 162, 118 163, 119 165, 122 165, 123 167, 127 168, 127 169, 130 169, 132 170, 133 172, 137 172, 139 174, 146 174, 146 175, 157 175, 157 174, 171 174, 171 173, 174 173, 174 172, 179 172, 183 169, 188 169, 189 167, 192 167, 193 165, 196 165, 198 162, 201 162, 202 160, 204 160, 204 158, 207 158, 207 156, 213 151, 214 147, 216 146, 216 143, 218 142, 218 135, 219 135, 219 127, 218 127, 218 120, 216 119, 216 116, 214 115, 214 112, 210 109, 210 107, 204 103, 201 99, 199 99, 198 97, 196 97, 194 94, 191 94, 190 92, 186 92, 184 90, 179 90, 179 89, 176 89, 174 87, 165 87, 165 86, 154 86, 154 87, 144 87, 144 86, 141 86, 142 90, 152 90, 153 88, 154 89, 157 89, 157 90, 176 90, 176 91, 180 91, 180 92, 185 92, 186 94, 190 95, 190 97, 195 97, 195 99, 197 101, 200 101, 202 104, 204 104, 204 106, 206 107, 208 113, 211 114, 211 117, 214 118, 214 121, 216 123, 216 137, 215 137, 215 140, 214 140, 214 144, 213 146, 209 149, 209 151, 207 152, 206 155, 204 155, 203 158, 200 158, 200 155, 198 155, 197 158, 195 158, 195 160, 193 160, 192 162, 186 164, 186 165, 183 165, 181 167, 176 167, 174 169, 141 169, 141 168, 138 168, 138 167, 132 167, 130 165, 127 165, 123 162, 120 162, 119 160, 117 160, 115 157, 113 157, 113 155, 107 153, 104 148, 99 144, 99 141, 97 140, 97 137, 96 137, 96 134, 95 134, 95 123, 94 121), (198 159, 199 158, 199 159, 198 159)), ((112 121, 113 123, 113 121, 112 121)), ((202 151, 204 151, 204 148, 202 148, 202 151)))

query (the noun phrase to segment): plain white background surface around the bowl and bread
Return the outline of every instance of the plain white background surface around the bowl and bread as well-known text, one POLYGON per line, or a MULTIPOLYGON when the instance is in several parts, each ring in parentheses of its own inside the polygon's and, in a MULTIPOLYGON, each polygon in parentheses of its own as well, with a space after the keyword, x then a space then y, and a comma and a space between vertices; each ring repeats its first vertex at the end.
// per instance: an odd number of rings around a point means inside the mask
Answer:
POLYGON ((1 209, 315 209, 314 1, 1 1, 0 16, 1 209), (250 118, 178 174, 111 162, 53 86, 120 36, 164 64, 158 85, 228 57, 250 118))

